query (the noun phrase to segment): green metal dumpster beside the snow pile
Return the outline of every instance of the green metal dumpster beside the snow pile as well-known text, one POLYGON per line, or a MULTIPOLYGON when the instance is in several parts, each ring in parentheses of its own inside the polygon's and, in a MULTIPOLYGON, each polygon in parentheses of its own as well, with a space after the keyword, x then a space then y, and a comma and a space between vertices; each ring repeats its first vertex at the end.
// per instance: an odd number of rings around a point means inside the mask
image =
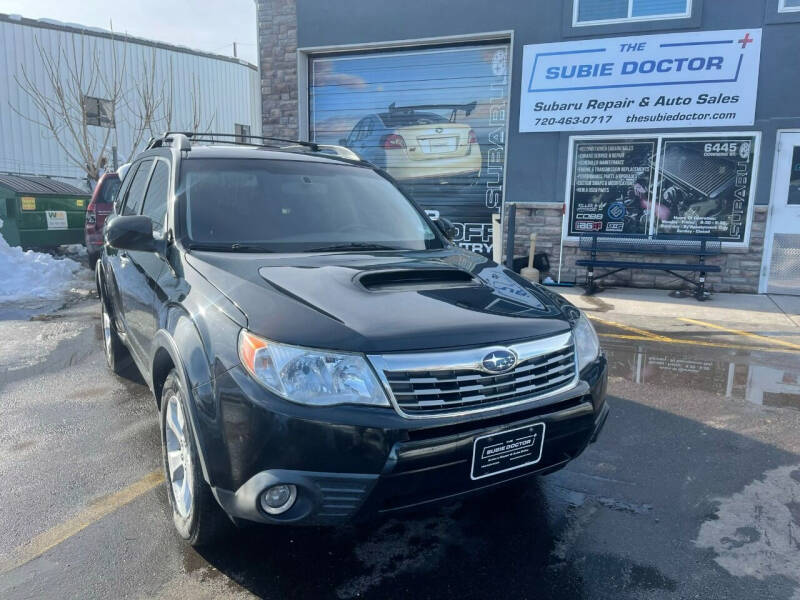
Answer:
POLYGON ((83 244, 90 197, 48 177, 0 175, 0 234, 23 248, 83 244))

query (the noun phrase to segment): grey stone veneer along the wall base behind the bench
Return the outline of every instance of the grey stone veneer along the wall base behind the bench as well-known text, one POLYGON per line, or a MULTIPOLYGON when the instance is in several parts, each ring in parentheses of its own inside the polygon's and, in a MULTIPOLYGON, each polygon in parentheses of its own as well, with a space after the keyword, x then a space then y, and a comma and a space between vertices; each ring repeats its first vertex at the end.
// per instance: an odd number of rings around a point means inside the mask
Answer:
MULTIPOLYGON (((506 216, 508 214, 505 205, 506 216)), ((556 202, 517 203, 517 226, 514 240, 514 255, 527 256, 530 234, 536 233, 536 251, 547 252, 550 259, 549 275, 557 280, 558 259, 561 244, 561 219, 563 204, 556 202)), ((508 223, 507 220, 504 223, 508 223)), ((720 273, 709 273, 706 285, 716 292, 757 293, 758 278, 761 271, 761 257, 764 249, 764 231, 767 224, 767 207, 756 206, 753 213, 753 224, 750 232, 749 248, 723 248, 722 254, 707 259, 708 264, 719 265, 720 273)), ((598 255, 600 256, 600 255, 598 255)), ((588 252, 580 252, 577 242, 564 242, 564 263, 561 266, 561 282, 583 285, 586 280, 586 268, 577 267, 578 258, 588 258, 588 252)), ((609 259, 630 259, 648 262, 675 262, 682 260, 680 256, 646 256, 641 254, 607 255, 609 259)), ((686 257, 686 260, 695 260, 686 257)), ((596 269, 602 273, 604 269, 596 269)), ((687 273, 691 276, 691 273, 687 273)), ((598 283, 606 286, 630 286, 659 289, 679 289, 687 284, 663 271, 645 271, 630 269, 616 275, 605 277, 598 283)))

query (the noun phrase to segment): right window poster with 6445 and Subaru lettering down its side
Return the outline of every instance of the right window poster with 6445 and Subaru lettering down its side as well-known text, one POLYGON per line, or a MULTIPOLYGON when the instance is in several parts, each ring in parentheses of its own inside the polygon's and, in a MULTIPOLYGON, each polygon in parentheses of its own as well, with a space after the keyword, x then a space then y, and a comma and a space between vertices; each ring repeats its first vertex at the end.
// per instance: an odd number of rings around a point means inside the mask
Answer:
POLYGON ((743 242, 755 138, 662 141, 655 235, 707 235, 743 242))

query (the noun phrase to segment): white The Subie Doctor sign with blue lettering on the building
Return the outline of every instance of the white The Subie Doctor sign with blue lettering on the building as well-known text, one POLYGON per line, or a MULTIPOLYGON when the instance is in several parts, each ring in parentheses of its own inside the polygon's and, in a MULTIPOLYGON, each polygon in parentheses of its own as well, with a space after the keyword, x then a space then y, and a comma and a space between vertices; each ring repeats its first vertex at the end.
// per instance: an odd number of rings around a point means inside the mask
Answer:
POLYGON ((525 46, 519 129, 752 125, 760 29, 525 46))

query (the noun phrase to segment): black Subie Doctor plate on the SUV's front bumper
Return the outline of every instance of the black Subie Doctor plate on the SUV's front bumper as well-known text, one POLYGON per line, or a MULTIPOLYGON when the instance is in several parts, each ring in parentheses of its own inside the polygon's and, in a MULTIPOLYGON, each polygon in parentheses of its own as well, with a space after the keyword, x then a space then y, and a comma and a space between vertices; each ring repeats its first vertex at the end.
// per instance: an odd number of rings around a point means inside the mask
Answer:
POLYGON ((498 431, 475 438, 472 447, 472 479, 520 469, 542 458, 544 423, 498 431))

